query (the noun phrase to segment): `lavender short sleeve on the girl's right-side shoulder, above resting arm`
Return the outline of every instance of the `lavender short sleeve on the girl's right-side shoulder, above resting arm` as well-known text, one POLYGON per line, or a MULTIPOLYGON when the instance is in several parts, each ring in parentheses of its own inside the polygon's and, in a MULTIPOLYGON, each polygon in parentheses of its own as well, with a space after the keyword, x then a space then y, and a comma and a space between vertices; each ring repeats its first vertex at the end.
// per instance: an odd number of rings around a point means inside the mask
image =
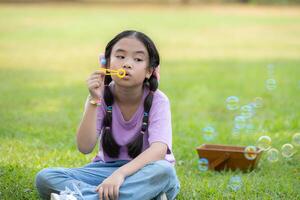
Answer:
POLYGON ((167 144, 170 154, 172 151, 171 109, 168 98, 153 102, 149 113, 148 142, 163 142, 167 144))

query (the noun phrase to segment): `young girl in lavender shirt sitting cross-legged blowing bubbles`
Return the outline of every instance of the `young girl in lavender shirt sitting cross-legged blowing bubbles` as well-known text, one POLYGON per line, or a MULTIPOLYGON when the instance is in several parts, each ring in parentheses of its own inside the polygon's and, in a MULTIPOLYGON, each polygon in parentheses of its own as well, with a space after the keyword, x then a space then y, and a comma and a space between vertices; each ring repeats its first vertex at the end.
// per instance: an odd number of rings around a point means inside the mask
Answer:
POLYGON ((43 199, 175 199, 180 183, 174 169, 170 104, 157 89, 159 54, 152 40, 124 31, 105 48, 102 67, 87 80, 89 97, 77 130, 80 152, 99 153, 81 168, 47 168, 36 176, 43 199), (68 189, 69 194, 62 194, 68 189), (56 193, 61 193, 60 195, 56 193), (164 198, 163 198, 164 197, 164 198))

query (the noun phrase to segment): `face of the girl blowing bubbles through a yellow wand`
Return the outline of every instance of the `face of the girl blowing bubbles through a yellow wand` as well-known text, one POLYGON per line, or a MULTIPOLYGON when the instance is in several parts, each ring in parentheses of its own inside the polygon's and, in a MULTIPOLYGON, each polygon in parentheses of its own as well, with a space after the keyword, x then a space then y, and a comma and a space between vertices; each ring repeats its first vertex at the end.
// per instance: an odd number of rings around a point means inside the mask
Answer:
POLYGON ((112 48, 109 68, 126 70, 122 79, 113 75, 112 79, 118 85, 136 87, 142 85, 145 78, 149 78, 152 69, 149 66, 149 55, 142 42, 134 37, 119 40, 112 48))

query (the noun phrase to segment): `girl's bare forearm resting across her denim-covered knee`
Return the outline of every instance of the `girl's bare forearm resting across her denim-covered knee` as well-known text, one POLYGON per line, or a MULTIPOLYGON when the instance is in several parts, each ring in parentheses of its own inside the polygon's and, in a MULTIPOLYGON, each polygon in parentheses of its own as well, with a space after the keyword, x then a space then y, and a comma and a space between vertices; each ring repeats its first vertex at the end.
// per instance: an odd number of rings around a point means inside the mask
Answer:
POLYGON ((117 169, 114 173, 121 173, 124 177, 130 176, 150 162, 165 159, 167 149, 168 147, 165 143, 153 142, 148 149, 117 169))

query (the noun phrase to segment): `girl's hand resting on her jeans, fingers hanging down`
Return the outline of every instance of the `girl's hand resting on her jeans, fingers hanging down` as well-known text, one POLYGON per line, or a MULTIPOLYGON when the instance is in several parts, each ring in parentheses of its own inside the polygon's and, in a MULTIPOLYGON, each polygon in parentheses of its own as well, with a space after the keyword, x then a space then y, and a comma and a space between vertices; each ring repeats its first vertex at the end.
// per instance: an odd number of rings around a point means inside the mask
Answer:
POLYGON ((100 185, 97 186, 96 192, 99 193, 100 200, 117 200, 119 199, 119 188, 124 182, 124 175, 114 172, 107 177, 100 185))

